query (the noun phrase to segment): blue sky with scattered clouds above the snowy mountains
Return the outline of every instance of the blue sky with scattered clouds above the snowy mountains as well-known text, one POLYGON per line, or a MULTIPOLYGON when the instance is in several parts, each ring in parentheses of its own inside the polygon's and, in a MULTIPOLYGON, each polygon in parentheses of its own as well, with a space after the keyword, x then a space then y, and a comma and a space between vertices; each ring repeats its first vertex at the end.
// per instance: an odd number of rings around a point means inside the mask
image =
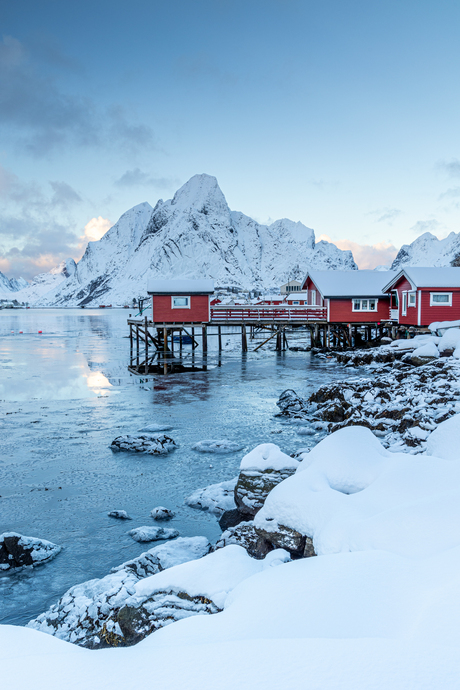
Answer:
POLYGON ((388 264, 460 231, 457 0, 0 0, 0 271, 215 175, 388 264))

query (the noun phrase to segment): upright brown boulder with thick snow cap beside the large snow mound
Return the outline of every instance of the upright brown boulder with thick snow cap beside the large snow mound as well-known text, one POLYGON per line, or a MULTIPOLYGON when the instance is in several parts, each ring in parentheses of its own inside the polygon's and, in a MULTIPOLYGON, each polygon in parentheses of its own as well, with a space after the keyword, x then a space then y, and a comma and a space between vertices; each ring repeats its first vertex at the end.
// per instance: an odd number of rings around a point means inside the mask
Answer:
POLYGON ((263 443, 244 456, 235 486, 235 503, 246 516, 254 517, 269 492, 294 474, 298 460, 283 453, 274 443, 263 443))

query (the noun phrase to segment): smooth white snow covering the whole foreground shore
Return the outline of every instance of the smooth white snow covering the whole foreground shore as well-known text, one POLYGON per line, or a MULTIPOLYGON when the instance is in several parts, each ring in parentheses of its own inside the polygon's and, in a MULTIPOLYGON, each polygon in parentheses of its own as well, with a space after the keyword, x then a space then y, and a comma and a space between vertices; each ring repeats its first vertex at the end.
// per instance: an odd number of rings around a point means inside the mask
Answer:
POLYGON ((362 427, 327 437, 255 520, 308 534, 317 557, 255 561, 233 545, 144 578, 131 605, 186 592, 223 610, 130 648, 0 627, 5 687, 457 689, 459 427, 459 416, 439 425, 418 456, 390 453, 362 427))

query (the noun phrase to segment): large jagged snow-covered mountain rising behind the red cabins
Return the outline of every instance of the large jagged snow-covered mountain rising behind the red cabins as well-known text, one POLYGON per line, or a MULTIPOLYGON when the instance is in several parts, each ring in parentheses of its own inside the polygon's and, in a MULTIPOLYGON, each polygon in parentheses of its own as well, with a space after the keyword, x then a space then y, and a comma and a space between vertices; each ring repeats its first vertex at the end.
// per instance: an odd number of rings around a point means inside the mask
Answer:
POLYGON ((123 304, 146 292, 148 278, 212 278, 216 287, 270 288, 307 269, 357 269, 350 251, 318 242, 302 223, 260 225, 230 211, 215 177, 195 175, 173 199, 139 204, 98 242, 76 271, 36 304, 123 304))

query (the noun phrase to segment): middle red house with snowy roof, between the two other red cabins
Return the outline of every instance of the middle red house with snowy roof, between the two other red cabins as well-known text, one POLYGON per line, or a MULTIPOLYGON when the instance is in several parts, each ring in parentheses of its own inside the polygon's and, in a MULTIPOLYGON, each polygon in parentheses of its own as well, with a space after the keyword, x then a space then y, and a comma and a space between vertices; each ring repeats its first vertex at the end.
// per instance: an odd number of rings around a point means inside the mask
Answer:
POLYGON ((390 297, 383 291, 390 276, 391 271, 308 271, 302 294, 305 304, 327 308, 328 323, 379 323, 390 319, 390 297))

